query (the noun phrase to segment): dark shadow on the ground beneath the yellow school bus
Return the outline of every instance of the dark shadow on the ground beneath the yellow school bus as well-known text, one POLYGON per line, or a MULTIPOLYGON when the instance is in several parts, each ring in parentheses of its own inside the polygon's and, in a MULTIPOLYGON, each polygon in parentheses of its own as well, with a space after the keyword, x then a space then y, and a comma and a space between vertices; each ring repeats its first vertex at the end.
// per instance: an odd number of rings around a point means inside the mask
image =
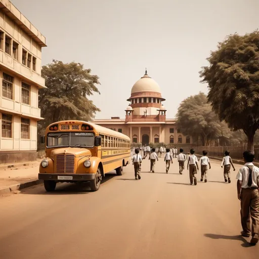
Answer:
MULTIPOLYGON (((102 178, 101 186, 109 180, 113 179, 116 173, 109 172, 102 178)), ((89 194, 92 193, 89 183, 57 183, 56 190, 54 192, 46 192, 44 185, 36 185, 27 189, 23 189, 20 194, 29 195, 71 195, 71 194, 89 194)))

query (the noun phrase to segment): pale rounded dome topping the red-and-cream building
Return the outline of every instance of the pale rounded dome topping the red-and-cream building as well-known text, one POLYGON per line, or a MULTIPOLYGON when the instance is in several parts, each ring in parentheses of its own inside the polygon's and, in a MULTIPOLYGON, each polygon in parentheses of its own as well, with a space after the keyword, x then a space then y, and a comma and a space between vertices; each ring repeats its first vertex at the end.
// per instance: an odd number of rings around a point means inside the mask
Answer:
POLYGON ((148 76, 146 73, 143 77, 141 77, 132 88, 132 94, 138 92, 156 92, 161 93, 160 87, 158 83, 148 76))

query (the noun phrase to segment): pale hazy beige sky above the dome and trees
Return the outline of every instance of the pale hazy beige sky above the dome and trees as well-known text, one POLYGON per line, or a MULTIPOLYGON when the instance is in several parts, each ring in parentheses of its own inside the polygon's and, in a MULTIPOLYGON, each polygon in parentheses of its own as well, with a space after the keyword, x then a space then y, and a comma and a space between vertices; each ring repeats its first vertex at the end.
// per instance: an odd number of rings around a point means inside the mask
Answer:
POLYGON ((259 26, 258 0, 13 0, 46 36, 42 64, 80 62, 100 77, 97 118, 124 118, 133 84, 158 82, 167 118, 200 91, 199 71, 228 34, 259 26))

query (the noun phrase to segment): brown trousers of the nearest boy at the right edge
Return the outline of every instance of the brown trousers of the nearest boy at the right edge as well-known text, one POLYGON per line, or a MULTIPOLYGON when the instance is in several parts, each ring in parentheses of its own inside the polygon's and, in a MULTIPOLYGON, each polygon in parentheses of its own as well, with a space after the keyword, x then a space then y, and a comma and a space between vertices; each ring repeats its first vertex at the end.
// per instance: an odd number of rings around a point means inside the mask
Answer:
POLYGON ((242 188, 241 190, 241 224, 245 233, 250 233, 252 219, 252 237, 259 234, 259 193, 258 189, 242 188))

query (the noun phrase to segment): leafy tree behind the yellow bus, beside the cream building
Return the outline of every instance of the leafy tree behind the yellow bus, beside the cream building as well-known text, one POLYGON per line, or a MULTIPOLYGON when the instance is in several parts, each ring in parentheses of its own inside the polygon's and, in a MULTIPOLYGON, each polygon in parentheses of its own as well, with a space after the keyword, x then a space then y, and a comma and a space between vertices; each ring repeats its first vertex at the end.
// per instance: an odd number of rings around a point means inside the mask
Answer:
MULTIPOLYGON (((91 75, 80 63, 53 63, 42 67, 41 76, 47 89, 39 92, 39 108, 45 119, 39 122, 45 128, 52 122, 65 119, 89 121, 100 111, 87 96, 99 93, 96 84, 99 77, 91 75)), ((100 94, 100 93, 99 93, 100 94)))

